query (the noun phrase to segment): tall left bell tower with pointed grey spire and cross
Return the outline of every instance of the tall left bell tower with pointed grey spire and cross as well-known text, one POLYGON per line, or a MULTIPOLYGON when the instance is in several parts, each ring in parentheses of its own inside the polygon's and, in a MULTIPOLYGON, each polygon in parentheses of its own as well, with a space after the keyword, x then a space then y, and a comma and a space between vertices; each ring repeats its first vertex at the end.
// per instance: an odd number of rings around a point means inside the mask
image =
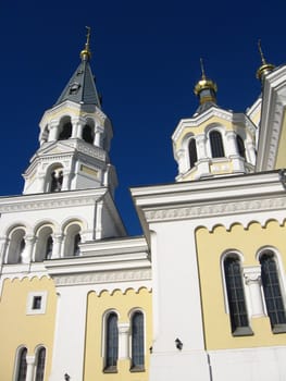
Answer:
POLYGON ((109 150, 112 125, 90 69, 90 28, 80 63, 39 123, 39 148, 24 173, 24 195, 117 185, 109 150))

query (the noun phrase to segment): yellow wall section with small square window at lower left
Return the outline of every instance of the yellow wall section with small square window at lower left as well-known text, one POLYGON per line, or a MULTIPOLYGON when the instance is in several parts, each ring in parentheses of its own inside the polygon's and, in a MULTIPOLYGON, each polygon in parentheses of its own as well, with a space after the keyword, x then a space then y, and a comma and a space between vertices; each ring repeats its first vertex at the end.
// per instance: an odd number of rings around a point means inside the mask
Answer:
POLYGON ((57 295, 53 281, 27 278, 5 280, 0 300, 0 380, 13 379, 15 354, 18 346, 35 355, 38 345, 46 347, 45 380, 51 370, 57 295), (47 308, 42 315, 26 315, 28 293, 47 291, 47 308))

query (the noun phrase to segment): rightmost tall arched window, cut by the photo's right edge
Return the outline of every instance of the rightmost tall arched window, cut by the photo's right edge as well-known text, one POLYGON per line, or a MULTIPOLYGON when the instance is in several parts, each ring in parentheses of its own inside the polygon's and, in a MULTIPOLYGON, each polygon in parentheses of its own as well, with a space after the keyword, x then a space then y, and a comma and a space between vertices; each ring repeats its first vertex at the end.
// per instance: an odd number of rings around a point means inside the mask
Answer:
POLYGON ((272 251, 262 254, 260 263, 262 287, 272 330, 274 333, 286 332, 285 306, 274 254, 272 251))

